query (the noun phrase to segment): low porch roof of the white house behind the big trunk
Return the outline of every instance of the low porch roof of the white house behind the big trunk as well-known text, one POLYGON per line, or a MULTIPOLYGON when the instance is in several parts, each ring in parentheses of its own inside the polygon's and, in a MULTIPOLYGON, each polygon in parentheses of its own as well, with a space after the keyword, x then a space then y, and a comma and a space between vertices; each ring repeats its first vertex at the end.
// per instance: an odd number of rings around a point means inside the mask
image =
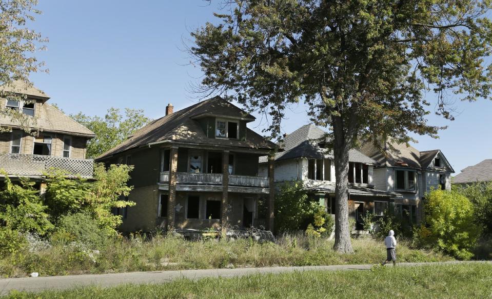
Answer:
MULTIPOLYGON (((328 181, 316 181, 316 180, 305 180, 303 181, 304 188, 310 192, 335 192, 335 183, 328 181)), ((387 192, 378 189, 371 189, 361 186, 355 186, 349 184, 348 192, 351 195, 362 195, 362 196, 382 196, 382 197, 402 197, 401 194, 395 192, 387 192)))

